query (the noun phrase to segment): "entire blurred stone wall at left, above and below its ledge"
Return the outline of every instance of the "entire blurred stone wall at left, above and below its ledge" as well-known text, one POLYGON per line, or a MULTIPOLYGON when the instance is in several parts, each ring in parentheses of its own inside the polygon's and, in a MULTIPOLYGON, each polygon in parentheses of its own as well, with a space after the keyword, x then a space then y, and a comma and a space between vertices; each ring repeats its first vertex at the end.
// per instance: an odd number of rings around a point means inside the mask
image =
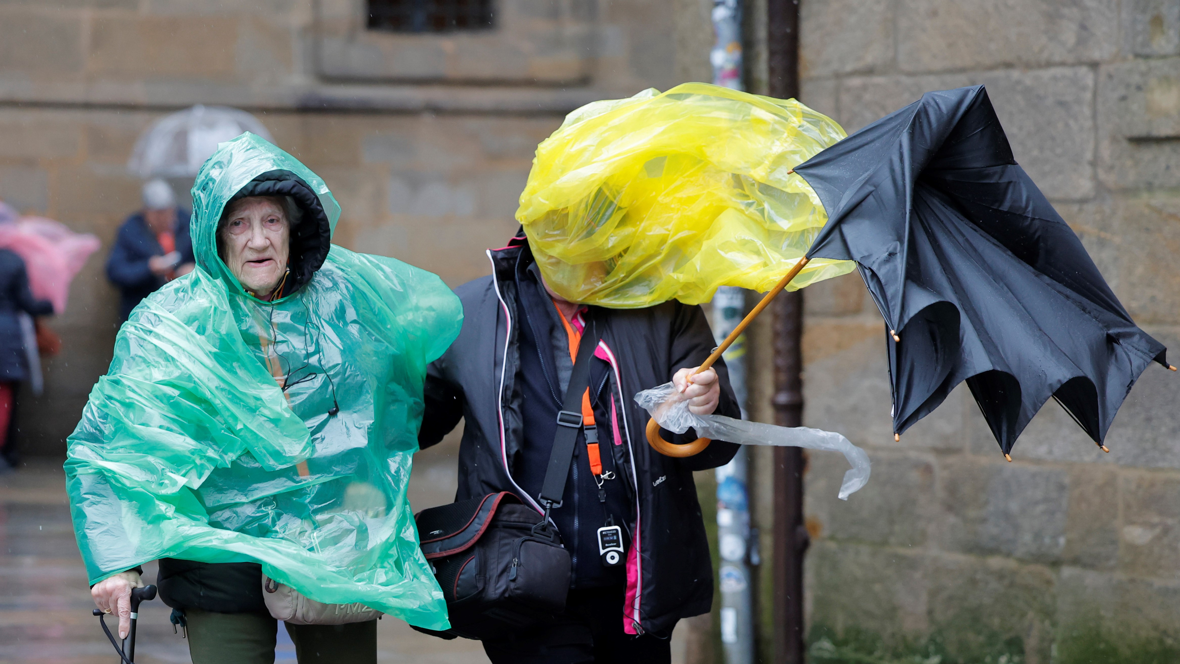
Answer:
POLYGON ((494 29, 407 35, 365 31, 361 0, 0 0, 0 199, 103 241, 50 321, 65 346, 45 395, 21 397, 22 449, 64 454, 110 362, 103 263, 139 206, 124 166, 153 120, 254 112, 336 193, 335 242, 458 285, 516 230, 533 150, 566 112, 677 81, 669 6, 497 0, 494 29))

